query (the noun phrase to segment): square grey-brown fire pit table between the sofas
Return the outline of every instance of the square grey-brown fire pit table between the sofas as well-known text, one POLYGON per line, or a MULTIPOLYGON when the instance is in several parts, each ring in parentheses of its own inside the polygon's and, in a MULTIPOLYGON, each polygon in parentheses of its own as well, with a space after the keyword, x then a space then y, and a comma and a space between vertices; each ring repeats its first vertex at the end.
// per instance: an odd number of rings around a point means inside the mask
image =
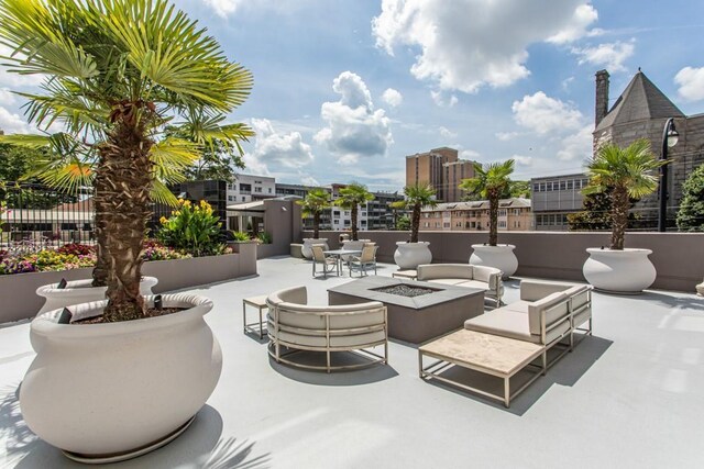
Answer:
POLYGON ((364 301, 384 303, 388 336, 413 344, 459 330, 484 312, 484 290, 473 288, 371 276, 328 290, 330 304, 364 301))

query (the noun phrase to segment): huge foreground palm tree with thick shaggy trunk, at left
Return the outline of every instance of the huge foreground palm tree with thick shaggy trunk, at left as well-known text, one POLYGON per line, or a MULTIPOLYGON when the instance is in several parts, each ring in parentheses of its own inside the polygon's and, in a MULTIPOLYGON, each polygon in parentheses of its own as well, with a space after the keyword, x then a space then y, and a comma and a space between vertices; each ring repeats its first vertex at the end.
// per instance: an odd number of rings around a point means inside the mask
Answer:
POLYGON ((10 71, 47 76, 41 94, 22 94, 29 121, 63 123, 94 155, 103 320, 143 317, 141 252, 160 161, 168 154, 190 166, 199 156, 188 144, 160 149, 160 134, 169 124, 201 142, 244 138, 246 127, 221 122, 249 96, 252 75, 167 0, 0 0, 0 24, 10 71))

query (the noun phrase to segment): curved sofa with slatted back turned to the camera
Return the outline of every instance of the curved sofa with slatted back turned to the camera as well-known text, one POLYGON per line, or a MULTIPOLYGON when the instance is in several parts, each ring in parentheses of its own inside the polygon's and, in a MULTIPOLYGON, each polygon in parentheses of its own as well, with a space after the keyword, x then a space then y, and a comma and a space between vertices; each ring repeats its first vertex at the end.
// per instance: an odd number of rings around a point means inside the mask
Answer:
POLYGON ((266 303, 268 353, 277 362, 328 372, 387 362, 386 306, 380 301, 336 306, 309 305, 306 287, 294 287, 270 294, 266 303), (369 350, 380 345, 384 346, 383 356, 369 350), (300 350, 326 353, 326 366, 288 358, 300 350), (332 366, 332 351, 353 351, 367 360, 332 366))

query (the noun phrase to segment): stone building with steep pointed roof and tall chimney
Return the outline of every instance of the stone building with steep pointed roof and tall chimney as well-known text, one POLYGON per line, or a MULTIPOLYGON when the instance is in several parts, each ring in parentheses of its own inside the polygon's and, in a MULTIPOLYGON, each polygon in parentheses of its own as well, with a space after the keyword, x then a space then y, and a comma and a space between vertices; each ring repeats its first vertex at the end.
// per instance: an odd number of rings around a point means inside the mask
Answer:
MULTIPOLYGON (((668 150, 668 158, 672 160, 668 171, 668 226, 673 226, 682 198, 682 183, 704 163, 704 114, 684 115, 640 70, 610 109, 608 72, 597 71, 595 101, 594 150, 604 142, 627 146, 638 138, 648 138, 652 152, 660 156, 664 124, 669 118, 674 118, 680 138, 678 144, 668 150)), ((658 193, 636 204, 634 211, 641 220, 641 226, 657 226, 658 204, 658 193)))

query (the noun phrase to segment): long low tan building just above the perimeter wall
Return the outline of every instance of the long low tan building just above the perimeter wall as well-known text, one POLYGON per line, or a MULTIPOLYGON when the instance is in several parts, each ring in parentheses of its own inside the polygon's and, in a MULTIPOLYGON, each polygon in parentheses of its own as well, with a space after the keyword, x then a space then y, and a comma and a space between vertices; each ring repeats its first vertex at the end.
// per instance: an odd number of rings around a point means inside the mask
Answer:
MULTIPOLYGON (((449 202, 424 209, 420 231, 488 230, 488 201, 449 202)), ((530 199, 512 198, 498 203, 498 231, 534 230, 530 199)))

